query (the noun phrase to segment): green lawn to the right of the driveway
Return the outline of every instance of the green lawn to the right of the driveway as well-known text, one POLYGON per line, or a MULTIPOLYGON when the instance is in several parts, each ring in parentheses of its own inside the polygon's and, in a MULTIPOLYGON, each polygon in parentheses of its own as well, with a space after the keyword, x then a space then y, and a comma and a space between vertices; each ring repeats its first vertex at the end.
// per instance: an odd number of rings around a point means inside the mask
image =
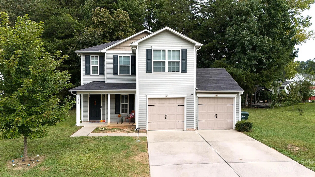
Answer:
POLYGON ((261 141, 315 171, 315 103, 282 108, 243 108, 253 130, 246 135, 261 141), (297 107, 305 109, 300 116, 297 107), (289 147, 288 147, 289 146, 289 147))

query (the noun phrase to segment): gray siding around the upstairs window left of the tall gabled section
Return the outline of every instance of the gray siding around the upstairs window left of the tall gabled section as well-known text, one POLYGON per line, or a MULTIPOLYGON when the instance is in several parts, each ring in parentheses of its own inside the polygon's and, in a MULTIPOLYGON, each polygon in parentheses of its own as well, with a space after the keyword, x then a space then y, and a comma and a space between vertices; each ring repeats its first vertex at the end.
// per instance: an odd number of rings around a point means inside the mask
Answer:
MULTIPOLYGON (((106 53, 107 82, 136 82, 136 76, 135 75, 114 75, 114 68, 113 68, 113 56, 114 55, 119 56, 119 55, 130 55, 130 54, 106 53)), ((131 54, 131 55, 135 55, 135 54, 131 54)))

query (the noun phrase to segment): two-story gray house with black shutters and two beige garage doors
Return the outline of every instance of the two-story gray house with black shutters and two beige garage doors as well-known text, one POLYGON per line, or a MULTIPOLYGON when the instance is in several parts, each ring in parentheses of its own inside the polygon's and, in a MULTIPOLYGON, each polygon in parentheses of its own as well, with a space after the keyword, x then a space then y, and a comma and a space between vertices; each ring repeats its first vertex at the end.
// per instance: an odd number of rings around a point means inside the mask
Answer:
POLYGON ((76 51, 82 86, 69 91, 77 95, 77 125, 80 117, 111 124, 135 110, 145 130, 234 128, 243 89, 225 69, 196 68, 201 46, 165 27, 76 51))

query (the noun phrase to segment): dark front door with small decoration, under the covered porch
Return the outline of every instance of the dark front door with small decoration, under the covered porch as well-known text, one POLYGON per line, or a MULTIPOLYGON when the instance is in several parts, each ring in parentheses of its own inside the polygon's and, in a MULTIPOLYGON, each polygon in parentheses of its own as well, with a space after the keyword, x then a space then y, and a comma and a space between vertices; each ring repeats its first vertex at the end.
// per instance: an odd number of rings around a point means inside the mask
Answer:
POLYGON ((90 95, 90 120, 100 120, 100 95, 90 95))

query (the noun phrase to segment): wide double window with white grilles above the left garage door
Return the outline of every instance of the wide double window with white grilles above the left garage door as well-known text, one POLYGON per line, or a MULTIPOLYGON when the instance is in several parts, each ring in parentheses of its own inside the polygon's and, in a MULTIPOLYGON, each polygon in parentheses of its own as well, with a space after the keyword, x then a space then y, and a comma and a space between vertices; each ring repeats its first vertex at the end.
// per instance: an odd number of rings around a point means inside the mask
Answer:
POLYGON ((180 50, 153 49, 153 72, 180 72, 180 50))

